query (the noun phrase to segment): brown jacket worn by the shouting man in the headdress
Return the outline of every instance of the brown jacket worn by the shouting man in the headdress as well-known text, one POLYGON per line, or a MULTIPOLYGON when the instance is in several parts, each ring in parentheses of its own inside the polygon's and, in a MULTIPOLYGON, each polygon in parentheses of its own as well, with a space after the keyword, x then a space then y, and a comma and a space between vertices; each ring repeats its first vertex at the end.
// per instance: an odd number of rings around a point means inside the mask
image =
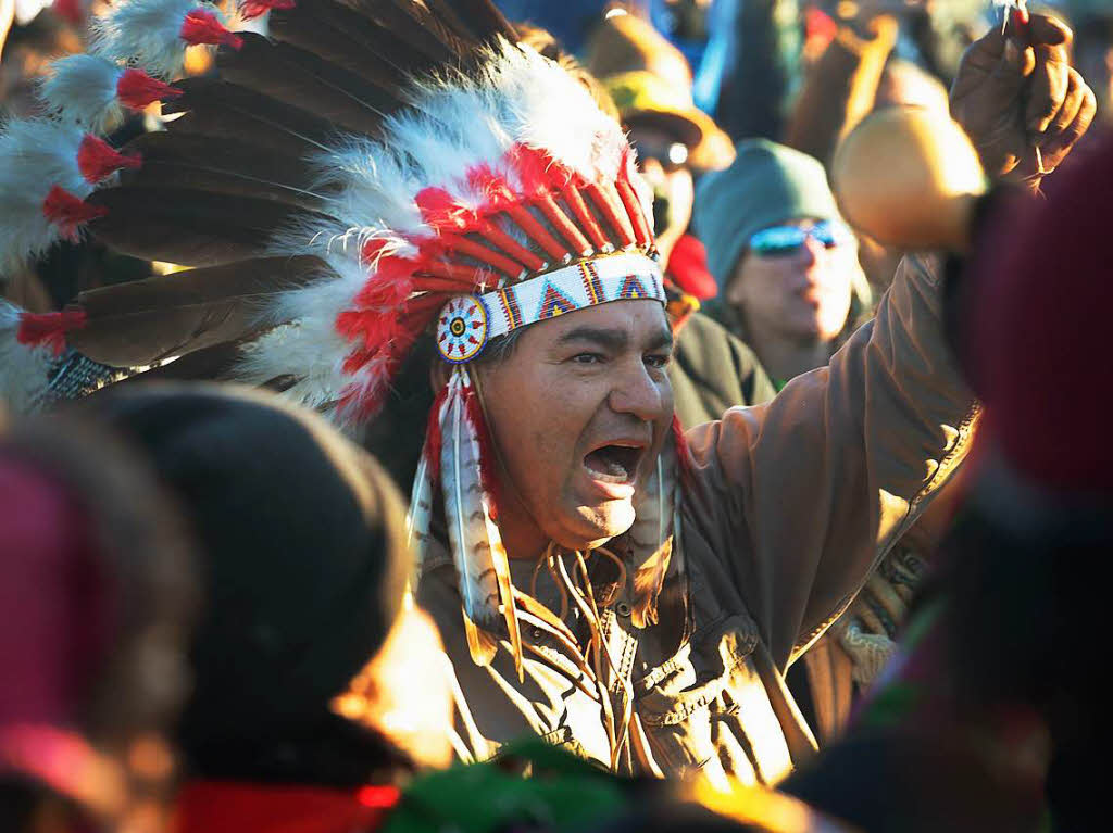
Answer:
MULTIPOLYGON (((676 651, 676 627, 633 627, 626 588, 602 613, 624 677, 610 687, 611 707, 622 714, 632 692, 651 772, 770 783, 812 753, 786 668, 966 452, 976 406, 943 340, 937 271, 906 260, 899 272, 876 319, 829 367, 687 435, 695 483, 679 545, 693 633, 676 651)), ((528 592, 532 565, 512 572, 528 592)), ((470 711, 459 730, 475 757, 535 733, 609 763, 600 705, 555 632, 540 621, 524 628, 536 652, 519 683, 506 643, 490 667, 471 661, 446 552, 425 563, 417 597, 441 627, 470 711)), ((647 768, 627 752, 619 770, 647 768)))

